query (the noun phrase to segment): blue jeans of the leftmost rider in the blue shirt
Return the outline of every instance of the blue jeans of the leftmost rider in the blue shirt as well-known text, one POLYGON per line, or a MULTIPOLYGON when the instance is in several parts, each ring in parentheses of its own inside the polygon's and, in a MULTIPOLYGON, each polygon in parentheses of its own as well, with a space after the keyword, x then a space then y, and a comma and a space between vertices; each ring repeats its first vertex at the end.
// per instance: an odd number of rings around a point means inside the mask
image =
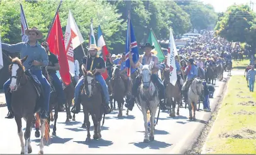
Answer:
MULTIPOLYGON (((36 75, 36 77, 38 78, 38 80, 41 82, 43 86, 43 96, 45 97, 45 99, 43 100, 43 105, 41 106, 42 106, 42 110, 46 110, 48 112, 49 101, 50 101, 50 91, 51 91, 50 83, 48 83, 45 76, 43 76, 42 70, 31 70, 31 74, 36 75)), ((4 83, 4 94, 6 97, 6 104, 7 104, 8 110, 11 110, 11 92, 9 92, 10 84, 11 84, 11 79, 8 79, 4 83)))

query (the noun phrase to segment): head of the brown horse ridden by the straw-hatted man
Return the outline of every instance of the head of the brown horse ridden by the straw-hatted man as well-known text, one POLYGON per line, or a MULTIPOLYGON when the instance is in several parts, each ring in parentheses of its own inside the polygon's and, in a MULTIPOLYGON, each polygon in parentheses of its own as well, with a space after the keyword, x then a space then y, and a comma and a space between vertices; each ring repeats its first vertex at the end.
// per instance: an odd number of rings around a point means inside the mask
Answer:
POLYGON ((97 82, 96 82, 96 78, 95 78, 95 75, 90 72, 90 71, 87 71, 85 73, 85 77, 84 77, 84 86, 87 88, 87 90, 89 92, 87 92, 87 95, 89 97, 91 97, 92 95, 94 95, 94 93, 99 93, 97 91, 97 86, 96 86, 97 82))

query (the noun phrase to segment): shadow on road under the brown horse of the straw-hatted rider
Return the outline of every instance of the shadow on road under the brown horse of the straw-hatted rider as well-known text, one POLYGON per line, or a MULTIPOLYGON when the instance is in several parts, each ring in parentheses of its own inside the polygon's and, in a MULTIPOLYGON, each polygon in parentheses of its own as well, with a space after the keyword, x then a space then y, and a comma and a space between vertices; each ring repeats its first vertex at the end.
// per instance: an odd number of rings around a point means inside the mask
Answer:
POLYGON ((74 141, 74 142, 77 142, 78 144, 85 144, 89 148, 100 148, 100 147, 103 147, 103 146, 113 145, 112 141, 106 141, 104 139, 99 139, 99 140, 91 139, 91 141, 89 141, 89 142, 86 142, 86 141, 74 141))

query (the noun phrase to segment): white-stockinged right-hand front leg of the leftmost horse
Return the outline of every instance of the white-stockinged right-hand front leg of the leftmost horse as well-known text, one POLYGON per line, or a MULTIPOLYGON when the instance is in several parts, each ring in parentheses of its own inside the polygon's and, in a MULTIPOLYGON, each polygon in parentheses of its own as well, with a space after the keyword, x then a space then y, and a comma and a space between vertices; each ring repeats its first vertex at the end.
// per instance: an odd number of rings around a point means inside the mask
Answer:
POLYGON ((30 144, 28 144, 28 141, 30 140, 30 134, 31 134, 31 123, 32 123, 32 118, 33 118, 33 114, 31 114, 32 117, 28 117, 28 119, 26 119, 26 131, 24 134, 25 137, 25 150, 24 150, 24 154, 28 154, 28 152, 31 152, 31 146, 29 146, 30 144), (29 150, 30 147, 30 150, 29 150))

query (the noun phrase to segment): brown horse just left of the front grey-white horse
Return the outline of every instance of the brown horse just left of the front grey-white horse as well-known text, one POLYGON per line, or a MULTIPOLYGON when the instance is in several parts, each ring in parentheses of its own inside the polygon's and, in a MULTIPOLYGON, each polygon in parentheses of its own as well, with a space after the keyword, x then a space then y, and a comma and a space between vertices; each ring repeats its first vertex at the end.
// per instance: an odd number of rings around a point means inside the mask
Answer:
POLYGON ((111 80, 111 85, 113 87, 113 99, 118 102, 118 117, 123 115, 123 105, 125 104, 125 89, 126 85, 125 81, 121 78, 121 70, 120 65, 113 66, 113 75, 111 80))

